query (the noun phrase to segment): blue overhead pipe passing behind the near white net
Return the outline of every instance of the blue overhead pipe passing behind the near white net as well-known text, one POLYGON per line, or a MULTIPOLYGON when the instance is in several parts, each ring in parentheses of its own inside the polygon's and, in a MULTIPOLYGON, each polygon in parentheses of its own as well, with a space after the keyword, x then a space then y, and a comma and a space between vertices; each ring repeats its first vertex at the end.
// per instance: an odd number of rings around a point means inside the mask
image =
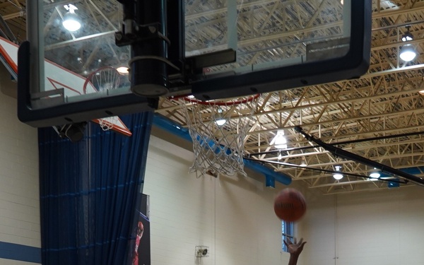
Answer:
MULTIPOLYGON (((192 142, 189 129, 182 127, 180 124, 177 124, 176 122, 167 119, 160 114, 156 113, 154 115, 153 125, 157 126, 159 129, 163 129, 170 134, 179 136, 184 140, 192 142)), ((270 167, 266 167, 261 163, 255 162, 254 160, 243 158, 243 162, 245 163, 245 167, 247 167, 249 170, 253 170, 254 172, 258 172, 261 173, 261 175, 264 175, 266 187, 275 187, 275 181, 285 185, 288 185, 292 182, 290 176, 281 172, 275 172, 270 167)))

